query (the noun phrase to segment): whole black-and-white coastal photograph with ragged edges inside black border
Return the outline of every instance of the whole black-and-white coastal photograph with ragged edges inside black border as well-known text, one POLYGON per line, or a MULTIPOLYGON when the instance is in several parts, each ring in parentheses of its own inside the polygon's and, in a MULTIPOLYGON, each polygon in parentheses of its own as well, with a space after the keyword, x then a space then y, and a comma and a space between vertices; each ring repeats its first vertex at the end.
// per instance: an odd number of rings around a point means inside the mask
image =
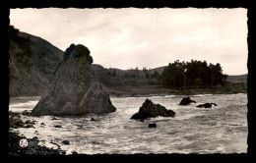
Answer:
POLYGON ((247 153, 247 12, 10 9, 9 154, 247 153))

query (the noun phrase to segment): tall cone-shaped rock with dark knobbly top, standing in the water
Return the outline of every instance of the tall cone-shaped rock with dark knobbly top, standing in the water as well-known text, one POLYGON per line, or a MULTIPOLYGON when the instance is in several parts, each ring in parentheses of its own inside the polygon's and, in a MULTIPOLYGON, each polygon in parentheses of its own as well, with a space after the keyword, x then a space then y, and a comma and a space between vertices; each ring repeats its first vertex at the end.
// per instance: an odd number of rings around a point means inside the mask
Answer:
POLYGON ((83 45, 70 45, 48 91, 32 110, 32 115, 76 116, 116 110, 109 95, 94 77, 93 58, 83 45))

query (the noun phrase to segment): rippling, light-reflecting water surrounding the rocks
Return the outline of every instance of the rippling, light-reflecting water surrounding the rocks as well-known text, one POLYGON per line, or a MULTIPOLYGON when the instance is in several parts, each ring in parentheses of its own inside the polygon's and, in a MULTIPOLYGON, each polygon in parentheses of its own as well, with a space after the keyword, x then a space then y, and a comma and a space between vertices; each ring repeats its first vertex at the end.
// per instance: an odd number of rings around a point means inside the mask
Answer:
MULTIPOLYGON (((21 134, 37 136, 46 146, 50 139, 57 143, 68 139, 70 145, 62 149, 70 153, 244 153, 247 150, 247 94, 194 95, 196 104, 177 105, 183 96, 153 96, 160 103, 176 112, 174 118, 152 118, 144 122, 131 120, 146 97, 111 97, 116 112, 105 115, 86 115, 51 120, 52 116, 27 117, 36 120, 35 129, 17 129, 21 134), (215 102, 212 108, 196 105, 215 102), (90 121, 91 117, 97 122, 90 121), (40 127, 40 123, 45 127, 40 127), (158 128, 148 128, 155 122, 158 128), (54 128, 61 125, 62 128, 54 128), (36 132, 35 132, 36 131, 36 132), (44 141, 45 140, 45 141, 44 141)), ((10 110, 32 110, 39 97, 12 98, 10 110)))

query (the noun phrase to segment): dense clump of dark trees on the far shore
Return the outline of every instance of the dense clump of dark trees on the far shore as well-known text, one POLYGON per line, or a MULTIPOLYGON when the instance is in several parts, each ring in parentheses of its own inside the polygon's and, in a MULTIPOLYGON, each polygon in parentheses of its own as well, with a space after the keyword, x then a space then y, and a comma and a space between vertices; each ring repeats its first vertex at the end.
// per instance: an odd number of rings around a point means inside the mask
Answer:
POLYGON ((226 75, 223 74, 221 64, 207 64, 206 61, 169 63, 160 75, 163 85, 176 88, 216 87, 224 85, 226 75))

